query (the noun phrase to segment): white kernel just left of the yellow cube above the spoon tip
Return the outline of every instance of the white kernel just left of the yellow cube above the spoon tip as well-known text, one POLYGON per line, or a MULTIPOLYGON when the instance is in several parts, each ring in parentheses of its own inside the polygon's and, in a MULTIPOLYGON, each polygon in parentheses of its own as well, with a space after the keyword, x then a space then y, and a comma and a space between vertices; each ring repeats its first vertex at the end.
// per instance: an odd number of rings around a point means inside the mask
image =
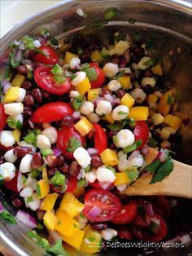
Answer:
MULTIPOLYGON (((102 143, 102 142, 101 142, 102 143)), ((116 180, 116 174, 113 170, 107 168, 107 166, 100 166, 96 170, 96 177, 99 182, 113 183, 116 180)))

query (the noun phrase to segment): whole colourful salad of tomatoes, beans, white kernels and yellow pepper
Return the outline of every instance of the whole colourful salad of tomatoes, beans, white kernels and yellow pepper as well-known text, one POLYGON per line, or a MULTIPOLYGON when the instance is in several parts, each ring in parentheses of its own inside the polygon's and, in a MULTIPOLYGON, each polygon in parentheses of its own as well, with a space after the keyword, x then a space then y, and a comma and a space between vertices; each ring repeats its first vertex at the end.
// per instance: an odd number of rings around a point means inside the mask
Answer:
POLYGON ((2 218, 56 255, 164 239, 168 200, 123 195, 141 175, 168 176, 168 139, 182 126, 151 43, 121 31, 108 45, 82 34, 58 41, 42 29, 3 58, 0 180, 17 214, 2 203, 2 218))

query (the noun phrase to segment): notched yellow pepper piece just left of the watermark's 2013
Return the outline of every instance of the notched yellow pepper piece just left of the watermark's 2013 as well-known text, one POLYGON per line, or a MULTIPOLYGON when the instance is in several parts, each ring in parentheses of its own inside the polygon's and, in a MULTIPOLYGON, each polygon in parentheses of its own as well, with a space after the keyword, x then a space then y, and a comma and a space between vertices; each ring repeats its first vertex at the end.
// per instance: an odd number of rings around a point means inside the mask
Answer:
POLYGON ((77 250, 80 249, 81 243, 83 241, 83 237, 85 235, 85 231, 76 229, 76 232, 70 237, 68 236, 62 236, 63 241, 66 242, 68 245, 71 245, 72 247, 76 248, 77 250))

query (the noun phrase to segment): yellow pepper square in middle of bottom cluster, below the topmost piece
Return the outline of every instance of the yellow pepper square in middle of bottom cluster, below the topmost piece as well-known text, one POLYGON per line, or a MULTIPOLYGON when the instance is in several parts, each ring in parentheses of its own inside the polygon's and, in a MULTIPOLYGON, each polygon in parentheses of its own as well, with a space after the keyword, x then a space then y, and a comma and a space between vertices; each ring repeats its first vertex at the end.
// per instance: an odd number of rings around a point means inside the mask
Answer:
POLYGON ((76 229, 80 227, 79 223, 75 219, 68 216, 63 210, 58 209, 55 214, 58 218, 58 223, 55 226, 55 230, 64 236, 71 237, 76 232, 76 229))

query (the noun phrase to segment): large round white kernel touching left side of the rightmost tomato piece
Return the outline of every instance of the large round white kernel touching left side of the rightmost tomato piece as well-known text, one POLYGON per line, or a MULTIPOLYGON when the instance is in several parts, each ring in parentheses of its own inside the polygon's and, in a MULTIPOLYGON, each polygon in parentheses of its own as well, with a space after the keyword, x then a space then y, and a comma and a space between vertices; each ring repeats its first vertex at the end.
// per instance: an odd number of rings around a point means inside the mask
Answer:
POLYGON ((126 148, 132 145, 135 141, 135 136, 133 132, 129 129, 122 129, 116 135, 116 140, 114 141, 118 148, 126 148))

